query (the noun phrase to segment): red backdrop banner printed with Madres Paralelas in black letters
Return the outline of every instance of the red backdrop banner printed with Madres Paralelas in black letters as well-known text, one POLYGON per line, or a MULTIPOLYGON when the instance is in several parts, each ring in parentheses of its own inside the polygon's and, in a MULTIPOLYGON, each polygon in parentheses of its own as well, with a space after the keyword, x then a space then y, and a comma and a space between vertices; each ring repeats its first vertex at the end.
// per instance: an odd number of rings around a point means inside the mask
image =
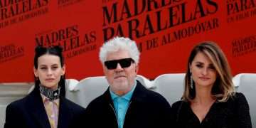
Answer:
POLYGON ((0 0, 0 82, 33 82, 36 45, 63 46, 67 78, 103 75, 102 43, 137 42, 139 74, 184 73, 191 48, 214 41, 233 75, 256 73, 256 0, 0 0))

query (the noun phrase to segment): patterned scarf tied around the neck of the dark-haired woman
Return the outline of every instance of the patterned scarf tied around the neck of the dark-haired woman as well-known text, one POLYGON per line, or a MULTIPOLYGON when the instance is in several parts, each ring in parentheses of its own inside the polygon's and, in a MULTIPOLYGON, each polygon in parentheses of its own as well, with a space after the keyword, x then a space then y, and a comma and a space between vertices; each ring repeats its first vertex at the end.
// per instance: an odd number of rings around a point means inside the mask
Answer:
POLYGON ((50 101, 56 100, 60 97, 60 87, 56 90, 51 90, 43 85, 39 85, 41 94, 45 95, 50 101))

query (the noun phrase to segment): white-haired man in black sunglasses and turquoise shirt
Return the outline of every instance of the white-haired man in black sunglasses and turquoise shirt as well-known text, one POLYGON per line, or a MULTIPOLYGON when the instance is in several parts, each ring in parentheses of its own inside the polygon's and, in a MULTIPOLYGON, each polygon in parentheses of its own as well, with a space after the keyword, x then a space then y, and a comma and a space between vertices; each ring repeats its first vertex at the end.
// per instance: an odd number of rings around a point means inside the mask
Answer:
POLYGON ((82 120, 90 127, 170 127, 171 107, 157 92, 147 90, 136 75, 139 50, 129 38, 115 37, 100 48, 100 61, 110 87, 90 102, 82 120))

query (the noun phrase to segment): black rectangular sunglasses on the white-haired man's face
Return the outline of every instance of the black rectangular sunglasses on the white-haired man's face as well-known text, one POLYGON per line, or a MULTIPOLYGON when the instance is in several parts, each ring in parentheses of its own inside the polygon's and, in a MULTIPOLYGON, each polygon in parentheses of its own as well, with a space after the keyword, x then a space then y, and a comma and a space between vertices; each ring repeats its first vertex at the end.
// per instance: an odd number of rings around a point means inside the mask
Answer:
POLYGON ((117 63, 119 63, 122 68, 127 68, 132 63, 134 63, 134 60, 132 58, 124 58, 120 60, 108 60, 108 61, 105 61, 104 64, 107 67, 107 69, 113 70, 117 68, 117 63))

